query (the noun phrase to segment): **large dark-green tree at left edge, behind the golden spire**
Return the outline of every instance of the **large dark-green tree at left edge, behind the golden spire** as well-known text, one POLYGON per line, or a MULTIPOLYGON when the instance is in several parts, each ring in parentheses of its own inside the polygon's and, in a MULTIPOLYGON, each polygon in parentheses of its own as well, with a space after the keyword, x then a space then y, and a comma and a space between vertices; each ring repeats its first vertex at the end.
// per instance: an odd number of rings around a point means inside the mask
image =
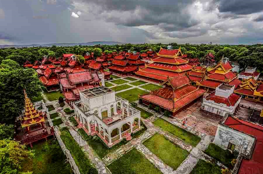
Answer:
POLYGON ((24 107, 23 89, 32 98, 40 95, 43 85, 34 69, 4 60, 0 65, 0 88, 0 123, 12 124, 24 107))

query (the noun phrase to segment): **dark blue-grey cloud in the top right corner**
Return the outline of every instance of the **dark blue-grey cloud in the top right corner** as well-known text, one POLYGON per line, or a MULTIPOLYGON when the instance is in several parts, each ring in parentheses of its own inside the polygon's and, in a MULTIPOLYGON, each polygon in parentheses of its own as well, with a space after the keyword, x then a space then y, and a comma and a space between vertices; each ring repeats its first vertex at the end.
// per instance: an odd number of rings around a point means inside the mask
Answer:
POLYGON ((247 15, 263 11, 262 0, 215 0, 219 2, 220 12, 247 15))

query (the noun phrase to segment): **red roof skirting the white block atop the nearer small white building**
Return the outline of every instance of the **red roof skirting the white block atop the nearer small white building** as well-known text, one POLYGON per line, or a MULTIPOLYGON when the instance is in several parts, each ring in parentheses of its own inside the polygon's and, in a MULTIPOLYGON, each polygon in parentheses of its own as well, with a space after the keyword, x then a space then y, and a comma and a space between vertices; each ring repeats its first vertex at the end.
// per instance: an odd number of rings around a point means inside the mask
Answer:
POLYGON ((239 100, 240 96, 232 93, 229 95, 228 98, 220 97, 215 95, 215 91, 207 95, 206 100, 212 100, 215 103, 223 103, 226 104, 226 106, 234 106, 236 102, 239 100))

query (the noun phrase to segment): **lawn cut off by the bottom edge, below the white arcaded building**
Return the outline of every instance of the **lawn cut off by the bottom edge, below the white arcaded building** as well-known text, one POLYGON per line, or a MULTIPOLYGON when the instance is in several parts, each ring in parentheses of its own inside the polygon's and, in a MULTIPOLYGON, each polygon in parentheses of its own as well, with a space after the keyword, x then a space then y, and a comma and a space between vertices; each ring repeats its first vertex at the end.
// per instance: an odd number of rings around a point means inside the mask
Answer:
POLYGON ((132 149, 108 165, 113 174, 162 174, 141 152, 132 149))

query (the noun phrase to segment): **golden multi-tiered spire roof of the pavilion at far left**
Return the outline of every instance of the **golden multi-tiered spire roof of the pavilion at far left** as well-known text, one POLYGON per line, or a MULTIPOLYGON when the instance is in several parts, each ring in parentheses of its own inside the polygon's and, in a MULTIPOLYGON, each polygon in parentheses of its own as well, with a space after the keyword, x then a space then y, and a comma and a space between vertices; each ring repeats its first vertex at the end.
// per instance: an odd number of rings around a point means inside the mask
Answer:
POLYGON ((33 106, 30 98, 28 98, 27 93, 24 89, 25 95, 25 111, 23 119, 21 120, 22 128, 29 127, 34 124, 38 124, 45 121, 42 112, 38 112, 38 110, 33 106))

